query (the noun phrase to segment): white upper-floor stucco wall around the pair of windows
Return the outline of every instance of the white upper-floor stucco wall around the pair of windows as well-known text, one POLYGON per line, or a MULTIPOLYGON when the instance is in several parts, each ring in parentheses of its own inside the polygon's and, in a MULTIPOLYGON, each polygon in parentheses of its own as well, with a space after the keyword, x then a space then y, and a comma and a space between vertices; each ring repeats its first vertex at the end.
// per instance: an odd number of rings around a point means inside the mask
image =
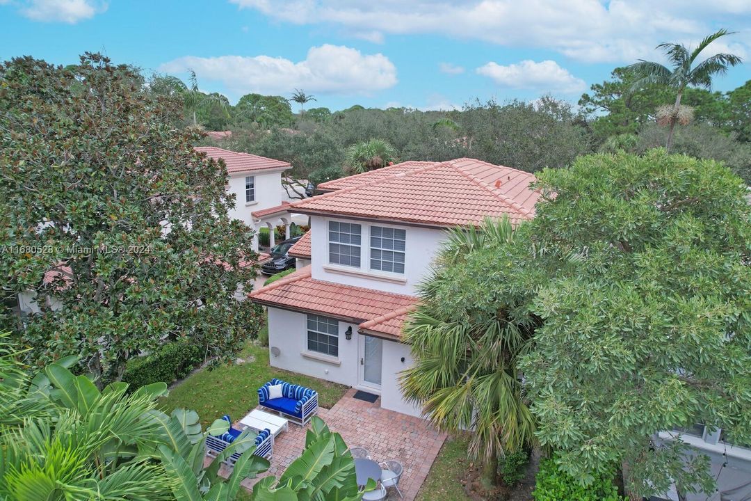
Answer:
POLYGON ((394 225, 390 223, 355 221, 352 219, 330 219, 323 216, 310 218, 311 249, 312 249, 312 277, 327 282, 354 285, 356 287, 375 288, 379 291, 397 294, 415 294, 415 287, 427 276, 430 264, 445 240, 446 234, 442 229, 418 228, 415 226, 394 225), (360 268, 330 265, 328 262, 328 221, 354 222, 362 227, 362 246, 360 247, 360 268), (382 273, 369 270, 369 227, 388 226, 406 230, 405 242, 405 273, 382 273), (335 271, 336 270, 336 271, 335 271), (387 279, 379 279, 385 276, 387 279))

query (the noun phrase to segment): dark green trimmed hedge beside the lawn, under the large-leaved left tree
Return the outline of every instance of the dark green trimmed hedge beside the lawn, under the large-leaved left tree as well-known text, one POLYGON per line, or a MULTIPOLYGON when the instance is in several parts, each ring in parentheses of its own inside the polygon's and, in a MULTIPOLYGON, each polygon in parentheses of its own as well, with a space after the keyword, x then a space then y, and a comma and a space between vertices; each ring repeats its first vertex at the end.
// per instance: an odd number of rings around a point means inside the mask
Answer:
POLYGON ((187 340, 174 341, 161 346, 151 355, 131 358, 122 380, 133 389, 155 382, 169 385, 175 379, 188 376, 203 361, 204 350, 200 346, 187 340))

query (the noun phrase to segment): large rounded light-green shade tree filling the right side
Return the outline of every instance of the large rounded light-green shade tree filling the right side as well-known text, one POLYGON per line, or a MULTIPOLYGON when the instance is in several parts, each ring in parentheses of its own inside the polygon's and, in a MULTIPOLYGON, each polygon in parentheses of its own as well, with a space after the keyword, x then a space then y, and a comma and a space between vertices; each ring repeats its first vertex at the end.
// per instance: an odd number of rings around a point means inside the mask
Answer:
POLYGON ((546 201, 523 245, 544 273, 520 284, 541 319, 520 364, 537 436, 576 478, 622 464, 633 499, 672 481, 713 492, 704 456, 655 436, 702 423, 751 439, 746 186, 664 149, 590 155, 538 180, 546 201))

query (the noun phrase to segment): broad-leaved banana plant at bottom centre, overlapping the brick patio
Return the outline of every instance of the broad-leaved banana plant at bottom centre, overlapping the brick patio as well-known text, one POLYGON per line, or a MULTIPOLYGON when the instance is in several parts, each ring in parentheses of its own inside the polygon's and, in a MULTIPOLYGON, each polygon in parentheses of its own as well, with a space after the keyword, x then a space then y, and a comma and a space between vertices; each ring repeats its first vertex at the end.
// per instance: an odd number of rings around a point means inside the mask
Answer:
MULTIPOLYGON (((237 466, 236 466, 237 467, 237 466)), ((305 450, 277 480, 261 478, 253 486, 254 501, 357 501, 375 489, 369 480, 364 491, 357 486, 354 460, 339 433, 332 433, 315 416, 306 433, 305 450)))

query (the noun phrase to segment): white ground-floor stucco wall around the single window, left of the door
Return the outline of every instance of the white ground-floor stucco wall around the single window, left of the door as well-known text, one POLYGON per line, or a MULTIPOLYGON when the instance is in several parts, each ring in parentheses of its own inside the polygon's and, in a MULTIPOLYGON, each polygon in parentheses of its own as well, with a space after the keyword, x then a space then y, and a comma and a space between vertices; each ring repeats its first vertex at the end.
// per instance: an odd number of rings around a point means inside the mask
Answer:
MULTIPOLYGON (((269 346, 281 351, 278 357, 269 355, 272 367, 291 370, 342 385, 353 386, 357 382, 357 325, 339 321, 339 364, 328 364, 306 358, 306 314, 286 309, 269 308, 269 346), (345 330, 351 325, 352 339, 345 339, 345 330)), ((321 355, 323 356, 323 355, 321 355)))

